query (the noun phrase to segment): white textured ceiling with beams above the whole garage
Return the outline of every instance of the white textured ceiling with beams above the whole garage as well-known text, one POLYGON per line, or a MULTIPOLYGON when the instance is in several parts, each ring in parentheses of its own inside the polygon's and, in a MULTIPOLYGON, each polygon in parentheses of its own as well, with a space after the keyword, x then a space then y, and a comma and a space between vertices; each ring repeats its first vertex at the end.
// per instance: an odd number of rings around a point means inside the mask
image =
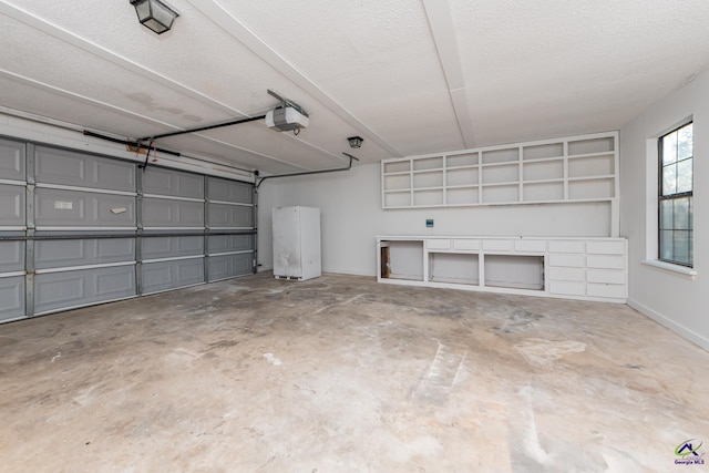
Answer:
POLYGON ((135 138, 261 115, 271 89, 299 135, 157 142, 265 173, 616 130, 709 65, 706 0, 171 0, 162 35, 129 0, 73 3, 0 1, 0 105, 135 138))

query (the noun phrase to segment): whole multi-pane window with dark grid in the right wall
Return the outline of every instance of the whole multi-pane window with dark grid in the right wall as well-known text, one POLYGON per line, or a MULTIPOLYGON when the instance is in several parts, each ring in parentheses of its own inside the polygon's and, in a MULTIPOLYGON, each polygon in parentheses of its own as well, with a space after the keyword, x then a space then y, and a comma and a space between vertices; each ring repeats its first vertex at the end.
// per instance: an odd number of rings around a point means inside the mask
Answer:
POLYGON ((658 259, 692 267, 692 124, 659 138, 658 259))

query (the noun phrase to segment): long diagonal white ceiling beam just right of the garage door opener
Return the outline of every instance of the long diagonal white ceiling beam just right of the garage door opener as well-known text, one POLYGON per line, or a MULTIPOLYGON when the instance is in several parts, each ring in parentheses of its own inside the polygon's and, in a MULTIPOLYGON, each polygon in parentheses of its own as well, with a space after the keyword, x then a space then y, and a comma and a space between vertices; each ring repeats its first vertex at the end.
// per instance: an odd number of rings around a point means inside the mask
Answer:
POLYGON ((359 133, 371 140, 373 143, 386 150, 392 156, 402 156, 402 154, 379 136, 372 128, 367 126, 349 110, 336 101, 330 94, 318 86, 305 73, 298 70, 294 64, 280 55, 270 45, 266 44, 254 31, 246 24, 242 23, 232 12, 229 12, 220 2, 216 0, 187 0, 195 9, 199 10, 205 17, 222 27, 224 31, 230 34, 248 48, 254 54, 269 64, 276 71, 280 72, 285 78, 294 82, 305 92, 310 94, 315 100, 327 106, 331 112, 349 123, 358 130, 359 133))

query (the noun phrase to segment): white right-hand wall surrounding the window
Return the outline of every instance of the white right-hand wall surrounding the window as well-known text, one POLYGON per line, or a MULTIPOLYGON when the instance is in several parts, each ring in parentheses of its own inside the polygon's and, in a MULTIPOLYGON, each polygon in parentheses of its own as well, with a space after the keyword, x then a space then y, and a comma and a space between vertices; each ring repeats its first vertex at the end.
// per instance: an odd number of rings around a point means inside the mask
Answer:
POLYGON ((629 240, 628 304, 709 349, 709 73, 620 130, 620 234, 629 240), (643 264, 656 257, 657 137, 693 116, 695 280, 643 264))

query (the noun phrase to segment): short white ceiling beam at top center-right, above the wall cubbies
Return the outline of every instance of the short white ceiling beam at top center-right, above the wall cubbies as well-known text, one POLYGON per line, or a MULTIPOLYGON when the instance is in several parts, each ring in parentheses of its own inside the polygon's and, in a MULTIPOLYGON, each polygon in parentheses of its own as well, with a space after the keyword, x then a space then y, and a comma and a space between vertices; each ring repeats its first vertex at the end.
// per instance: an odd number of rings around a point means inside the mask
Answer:
POLYGON ((431 29, 433 42, 435 43, 441 66, 443 68, 443 74, 448 82, 451 103, 455 111, 458 127, 461 132, 463 143, 465 147, 474 147, 475 134, 467 106, 465 76, 463 75, 463 69, 461 66, 450 4, 448 0, 423 0, 423 8, 425 9, 429 28, 431 29))

